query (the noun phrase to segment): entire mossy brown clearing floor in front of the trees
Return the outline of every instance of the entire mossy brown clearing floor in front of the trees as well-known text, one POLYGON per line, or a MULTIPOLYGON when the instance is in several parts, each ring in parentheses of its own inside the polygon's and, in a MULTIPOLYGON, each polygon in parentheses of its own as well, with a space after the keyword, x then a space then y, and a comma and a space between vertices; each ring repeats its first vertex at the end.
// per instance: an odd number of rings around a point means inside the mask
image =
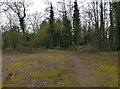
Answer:
POLYGON ((3 52, 3 87, 118 87, 116 53, 3 52))

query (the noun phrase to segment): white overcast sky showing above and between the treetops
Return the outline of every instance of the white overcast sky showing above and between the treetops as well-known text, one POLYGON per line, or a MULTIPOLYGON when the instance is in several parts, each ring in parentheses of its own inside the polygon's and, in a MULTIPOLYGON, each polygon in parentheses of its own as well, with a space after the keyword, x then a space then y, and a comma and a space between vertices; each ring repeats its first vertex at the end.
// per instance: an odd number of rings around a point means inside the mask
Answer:
MULTIPOLYGON (((22 1, 22 0, 0 0, 0 2, 15 2, 15 1, 22 1)), ((28 14, 32 14, 35 12, 41 12, 42 15, 45 13, 45 9, 48 7, 48 5, 45 3, 47 1, 52 2, 53 7, 55 7, 57 9, 57 2, 58 1, 63 1, 63 0, 25 0, 29 3, 31 3, 30 8, 29 8, 29 12, 28 14)), ((65 0, 65 1, 69 1, 69 0, 65 0)), ((74 2, 74 0, 71 0, 72 2, 74 2)), ((78 2, 89 2, 91 0, 77 0, 78 2)), ((0 18, 0 25, 1 24, 5 24, 4 22, 6 22, 5 19, 5 15, 2 16, 2 18, 0 18)))

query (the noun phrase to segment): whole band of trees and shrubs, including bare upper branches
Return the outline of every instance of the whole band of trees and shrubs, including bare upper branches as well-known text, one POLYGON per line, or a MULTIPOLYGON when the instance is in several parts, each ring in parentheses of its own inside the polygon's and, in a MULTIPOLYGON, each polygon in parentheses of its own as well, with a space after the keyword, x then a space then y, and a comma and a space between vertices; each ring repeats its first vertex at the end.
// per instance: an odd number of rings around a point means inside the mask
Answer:
MULTIPOLYGON (((35 20, 31 28, 27 28, 26 2, 2 2, 3 11, 9 14, 12 10, 16 15, 16 22, 12 24, 14 17, 9 16, 9 26, 1 26, 3 49, 17 50, 18 48, 45 48, 45 49, 75 49, 92 48, 95 51, 120 50, 120 2, 90 2, 87 7, 79 7, 77 0, 60 3, 62 9, 56 10, 49 3, 49 17, 41 20, 41 16, 34 14, 35 20), (72 8, 73 7, 73 8, 72 8), (107 8, 109 7, 109 8, 107 8), (72 12, 69 13, 68 10, 72 12), (56 18, 56 14, 59 14, 56 18), (62 18, 61 18, 62 17, 62 18), (72 17, 72 19, 71 19, 72 17), (34 26, 33 26, 34 25, 34 26), (33 31, 32 31, 33 30, 33 31)), ((60 7, 58 6, 58 7, 60 7)), ((30 23, 29 22, 29 23, 30 23)))

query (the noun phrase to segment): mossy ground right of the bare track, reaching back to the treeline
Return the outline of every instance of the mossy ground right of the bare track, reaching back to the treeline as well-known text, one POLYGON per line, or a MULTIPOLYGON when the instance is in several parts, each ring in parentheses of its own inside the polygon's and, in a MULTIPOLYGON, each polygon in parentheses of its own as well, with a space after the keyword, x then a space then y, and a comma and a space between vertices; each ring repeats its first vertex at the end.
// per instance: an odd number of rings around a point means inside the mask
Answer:
POLYGON ((92 79, 96 86, 118 87, 118 53, 103 52, 87 54, 83 60, 87 60, 93 66, 92 79))

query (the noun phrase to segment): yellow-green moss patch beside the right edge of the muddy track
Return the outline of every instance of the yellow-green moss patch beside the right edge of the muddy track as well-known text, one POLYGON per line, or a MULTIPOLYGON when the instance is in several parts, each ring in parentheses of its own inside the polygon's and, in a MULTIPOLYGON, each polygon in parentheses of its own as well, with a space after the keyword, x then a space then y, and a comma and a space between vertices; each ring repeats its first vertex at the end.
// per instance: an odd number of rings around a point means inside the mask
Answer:
POLYGON ((116 63, 109 61, 101 61, 96 63, 95 78, 103 81, 102 86, 117 87, 118 86, 118 66, 116 63))

